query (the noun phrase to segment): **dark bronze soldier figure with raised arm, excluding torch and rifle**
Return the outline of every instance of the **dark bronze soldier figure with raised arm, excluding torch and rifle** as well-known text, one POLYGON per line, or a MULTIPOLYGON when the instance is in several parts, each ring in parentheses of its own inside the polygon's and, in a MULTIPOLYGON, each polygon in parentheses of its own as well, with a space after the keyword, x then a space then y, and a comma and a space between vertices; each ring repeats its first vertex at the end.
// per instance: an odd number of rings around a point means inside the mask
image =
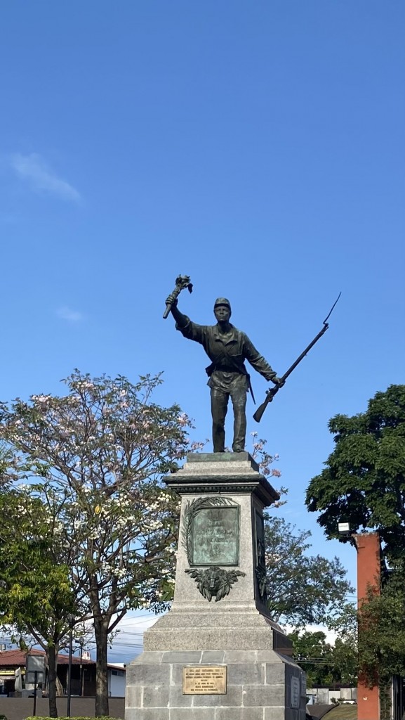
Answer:
MULTIPOLYGON (((178 293, 177 293, 178 294, 178 293)), ((197 325, 178 310, 177 294, 172 293, 166 305, 176 320, 176 329, 189 340, 201 343, 211 364, 206 368, 211 389, 212 441, 214 452, 225 451, 225 416, 229 397, 234 410, 234 452, 245 450, 246 397, 250 390, 250 376, 245 367, 247 360, 266 380, 277 387, 284 383, 259 354, 247 335, 229 323, 231 305, 226 297, 219 297, 214 304, 217 325, 197 325)))

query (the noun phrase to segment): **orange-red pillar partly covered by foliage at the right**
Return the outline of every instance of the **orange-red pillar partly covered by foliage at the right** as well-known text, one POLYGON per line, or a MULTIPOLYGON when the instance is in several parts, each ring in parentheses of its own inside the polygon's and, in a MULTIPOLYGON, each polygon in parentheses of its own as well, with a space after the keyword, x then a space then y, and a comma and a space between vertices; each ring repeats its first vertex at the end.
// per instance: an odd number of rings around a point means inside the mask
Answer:
MULTIPOLYGON (((355 536, 358 549, 358 609, 367 600, 370 585, 380 593, 381 559, 380 536, 378 533, 364 533, 355 536)), ((380 698, 378 685, 368 688, 361 677, 358 678, 358 720, 379 720, 380 698)))

